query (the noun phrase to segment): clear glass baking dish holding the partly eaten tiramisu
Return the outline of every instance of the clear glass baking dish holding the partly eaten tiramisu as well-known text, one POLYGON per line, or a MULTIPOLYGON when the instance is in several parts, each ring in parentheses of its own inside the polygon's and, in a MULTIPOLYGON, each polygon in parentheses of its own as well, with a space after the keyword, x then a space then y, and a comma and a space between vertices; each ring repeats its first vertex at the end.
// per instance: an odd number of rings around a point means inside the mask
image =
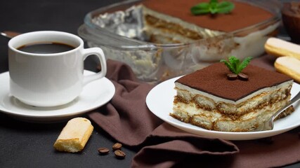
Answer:
MULTIPOLYGON (((264 52, 264 43, 270 34, 278 29, 281 20, 280 8, 282 4, 280 1, 244 1, 270 11, 274 15, 273 18, 229 33, 190 43, 172 44, 139 40, 130 35, 131 31, 126 36, 113 32, 111 29, 115 29, 118 25, 113 21, 118 17, 116 15, 111 15, 110 20, 104 22, 104 25, 99 25, 93 21, 99 15, 105 15, 105 18, 109 17, 110 13, 124 15, 131 6, 141 2, 143 1, 122 1, 93 10, 84 18, 84 25, 79 27, 78 33, 87 41, 89 47, 100 47, 105 52, 107 59, 125 62, 131 66, 138 80, 147 83, 159 83, 175 76, 192 73, 230 55, 235 55, 240 59, 249 56, 259 57, 264 52), (238 48, 235 48, 237 45, 238 48)), ((134 25, 138 23, 132 21, 132 18, 130 22, 133 24, 125 24, 122 25, 123 27, 117 27, 117 29, 140 26, 134 25)), ((135 33, 133 32, 133 34, 135 33)))

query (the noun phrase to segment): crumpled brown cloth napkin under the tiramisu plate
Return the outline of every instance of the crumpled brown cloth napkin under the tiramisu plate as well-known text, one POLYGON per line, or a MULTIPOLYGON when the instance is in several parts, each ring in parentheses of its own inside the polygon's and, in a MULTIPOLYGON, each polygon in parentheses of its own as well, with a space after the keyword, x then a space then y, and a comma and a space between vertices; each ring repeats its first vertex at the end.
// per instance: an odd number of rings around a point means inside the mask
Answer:
MULTIPOLYGON (((254 64, 272 61, 261 57, 254 64)), ((153 85, 138 83, 126 64, 107 60, 106 77, 116 87, 115 96, 89 118, 117 141, 138 149, 131 167, 279 167, 300 160, 299 130, 252 141, 208 139, 154 116, 145 104, 153 85)))

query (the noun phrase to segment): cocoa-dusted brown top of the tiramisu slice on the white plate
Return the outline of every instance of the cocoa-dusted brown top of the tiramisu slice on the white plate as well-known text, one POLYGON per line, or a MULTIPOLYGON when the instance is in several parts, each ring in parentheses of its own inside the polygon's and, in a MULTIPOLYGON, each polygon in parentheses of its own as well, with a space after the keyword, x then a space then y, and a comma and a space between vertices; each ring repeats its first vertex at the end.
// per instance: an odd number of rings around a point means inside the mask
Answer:
POLYGON ((247 81, 228 80, 227 74, 230 71, 225 64, 220 62, 183 76, 176 82, 216 97, 237 101, 257 90, 292 80, 282 73, 268 71, 251 64, 242 72, 249 76, 247 81))

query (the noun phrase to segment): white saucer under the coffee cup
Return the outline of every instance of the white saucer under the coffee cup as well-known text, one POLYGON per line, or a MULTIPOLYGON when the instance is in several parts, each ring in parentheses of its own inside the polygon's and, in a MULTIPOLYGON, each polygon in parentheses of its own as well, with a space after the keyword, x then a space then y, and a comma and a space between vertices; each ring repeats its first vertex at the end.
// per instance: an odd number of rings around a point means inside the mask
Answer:
MULTIPOLYGON (((84 71, 84 74, 94 72, 84 71)), ((63 106, 37 107, 23 104, 9 93, 9 73, 0 74, 0 111, 33 123, 56 123, 103 106, 115 94, 115 86, 107 78, 87 84, 74 101, 63 106)))

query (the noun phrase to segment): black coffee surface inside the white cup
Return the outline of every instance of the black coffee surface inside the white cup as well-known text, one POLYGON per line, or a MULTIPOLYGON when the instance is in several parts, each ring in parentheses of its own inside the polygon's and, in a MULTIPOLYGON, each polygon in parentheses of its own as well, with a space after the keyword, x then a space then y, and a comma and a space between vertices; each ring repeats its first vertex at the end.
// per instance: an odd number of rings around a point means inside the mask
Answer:
POLYGON ((53 54, 53 53, 73 50, 74 47, 71 45, 67 45, 65 43, 48 42, 48 43, 32 43, 28 45, 22 45, 17 49, 24 52, 30 52, 36 54, 53 54))

